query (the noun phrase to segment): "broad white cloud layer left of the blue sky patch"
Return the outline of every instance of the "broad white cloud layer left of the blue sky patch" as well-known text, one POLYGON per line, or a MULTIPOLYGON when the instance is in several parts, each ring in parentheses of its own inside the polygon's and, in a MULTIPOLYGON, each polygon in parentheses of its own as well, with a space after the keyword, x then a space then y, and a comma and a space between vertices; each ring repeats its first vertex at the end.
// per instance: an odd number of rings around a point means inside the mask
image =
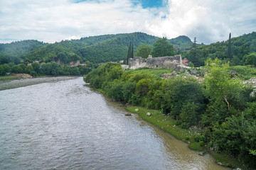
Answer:
POLYGON ((0 37, 55 42, 70 36, 146 31, 144 22, 154 9, 135 6, 128 0, 114 1, 22 1, 0 4, 0 37))

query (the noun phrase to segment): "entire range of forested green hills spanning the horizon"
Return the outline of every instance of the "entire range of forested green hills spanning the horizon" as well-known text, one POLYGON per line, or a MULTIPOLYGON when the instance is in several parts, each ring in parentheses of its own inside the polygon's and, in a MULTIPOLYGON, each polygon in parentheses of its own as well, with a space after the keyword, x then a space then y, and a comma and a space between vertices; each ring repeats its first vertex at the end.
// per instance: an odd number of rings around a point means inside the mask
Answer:
MULTIPOLYGON (((228 36, 227 36, 228 37, 228 36)), ((129 42, 134 43, 134 53, 142 43, 153 47, 158 37, 146 33, 124 33, 116 35, 98 35, 80 40, 63 40, 55 43, 43 43, 37 40, 23 40, 0 44, 0 64, 14 62, 57 62, 63 64, 80 60, 80 62, 119 62, 126 60, 129 42)), ((247 60, 248 55, 256 52, 256 33, 252 32, 231 39, 231 57, 228 57, 229 41, 215 42, 210 45, 196 45, 181 35, 168 40, 178 48, 182 57, 186 57, 196 67, 203 66, 207 58, 218 57, 223 62, 230 61, 231 65, 253 64, 254 60, 247 60)), ((255 59, 256 60, 256 59, 255 59)), ((256 63, 256 62, 255 62, 256 63)))

